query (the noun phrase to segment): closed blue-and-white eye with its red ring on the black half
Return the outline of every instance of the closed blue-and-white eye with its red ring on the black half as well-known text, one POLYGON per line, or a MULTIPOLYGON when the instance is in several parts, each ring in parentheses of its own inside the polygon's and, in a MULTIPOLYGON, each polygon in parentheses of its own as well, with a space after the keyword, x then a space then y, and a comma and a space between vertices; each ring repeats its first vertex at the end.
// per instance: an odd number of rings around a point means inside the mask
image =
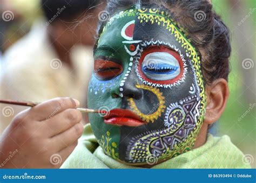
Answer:
POLYGON ((173 83, 183 74, 183 61, 179 54, 164 46, 147 48, 139 62, 139 73, 152 83, 173 83))

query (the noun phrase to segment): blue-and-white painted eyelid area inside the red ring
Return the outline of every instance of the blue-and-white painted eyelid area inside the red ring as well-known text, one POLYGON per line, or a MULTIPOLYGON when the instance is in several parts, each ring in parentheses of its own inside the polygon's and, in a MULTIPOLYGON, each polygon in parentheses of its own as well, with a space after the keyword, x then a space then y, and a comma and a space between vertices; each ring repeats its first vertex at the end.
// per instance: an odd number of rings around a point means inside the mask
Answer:
POLYGON ((153 52, 145 56, 142 71, 151 80, 171 80, 180 74, 180 65, 170 53, 153 52))

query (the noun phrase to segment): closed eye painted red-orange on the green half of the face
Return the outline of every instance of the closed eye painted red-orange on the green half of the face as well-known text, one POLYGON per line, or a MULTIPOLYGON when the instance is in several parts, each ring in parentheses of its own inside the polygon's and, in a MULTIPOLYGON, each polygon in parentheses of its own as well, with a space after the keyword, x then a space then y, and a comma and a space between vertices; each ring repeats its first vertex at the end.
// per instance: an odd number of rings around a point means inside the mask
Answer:
POLYGON ((95 60, 94 74, 98 80, 110 80, 123 72, 123 67, 110 60, 95 60))

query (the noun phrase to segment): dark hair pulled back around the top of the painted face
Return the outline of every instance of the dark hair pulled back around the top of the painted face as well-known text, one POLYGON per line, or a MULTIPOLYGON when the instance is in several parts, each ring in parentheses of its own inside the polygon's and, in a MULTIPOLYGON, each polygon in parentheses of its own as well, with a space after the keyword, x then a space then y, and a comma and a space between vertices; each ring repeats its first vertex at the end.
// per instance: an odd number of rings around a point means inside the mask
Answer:
MULTIPOLYGON (((228 79, 231 54, 230 31, 212 9, 210 0, 109 0, 105 11, 114 13, 152 5, 164 6, 177 24, 188 34, 191 43, 201 54, 203 74, 207 84, 219 78, 228 79)), ((98 35, 106 22, 99 22, 98 35)))

